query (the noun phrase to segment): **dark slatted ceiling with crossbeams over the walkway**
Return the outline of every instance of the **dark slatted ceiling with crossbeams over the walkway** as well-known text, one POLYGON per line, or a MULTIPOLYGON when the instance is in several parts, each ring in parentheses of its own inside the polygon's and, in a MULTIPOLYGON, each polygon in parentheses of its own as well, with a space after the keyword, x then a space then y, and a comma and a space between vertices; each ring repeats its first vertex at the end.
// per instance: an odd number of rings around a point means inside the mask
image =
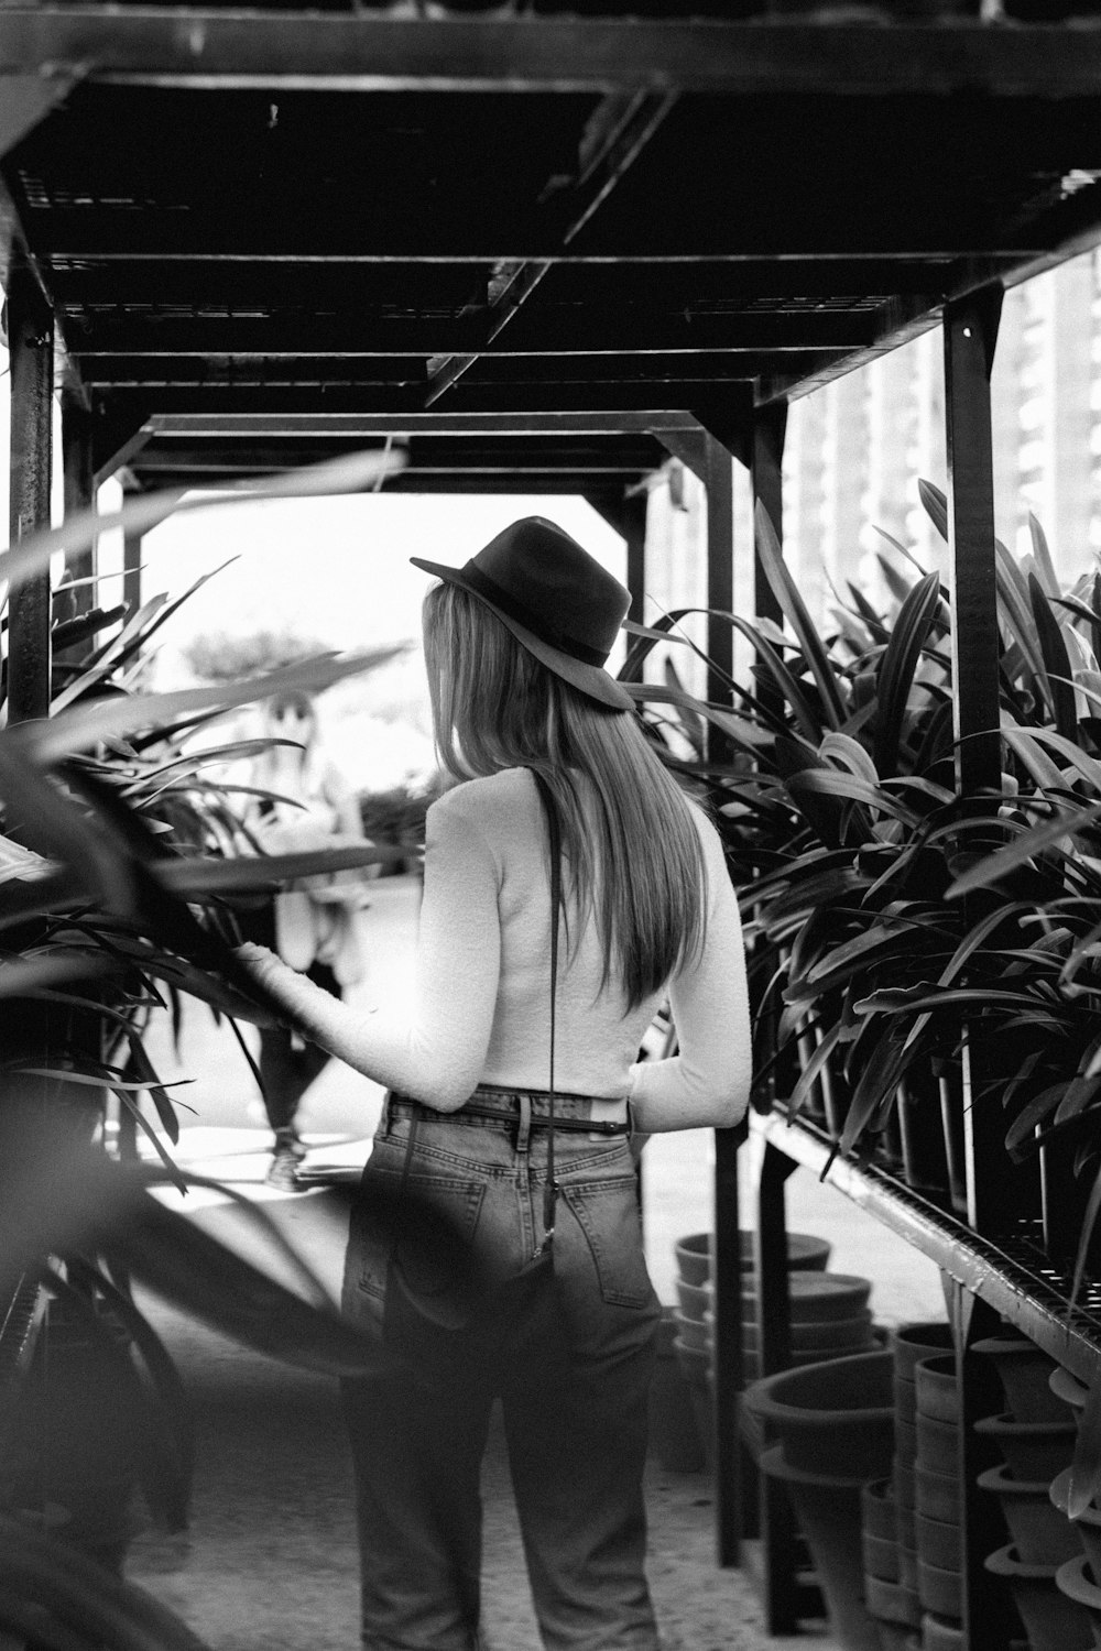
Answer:
POLYGON ((101 472, 616 500, 1093 244, 1101 28, 0 7, 0 145, 101 472))

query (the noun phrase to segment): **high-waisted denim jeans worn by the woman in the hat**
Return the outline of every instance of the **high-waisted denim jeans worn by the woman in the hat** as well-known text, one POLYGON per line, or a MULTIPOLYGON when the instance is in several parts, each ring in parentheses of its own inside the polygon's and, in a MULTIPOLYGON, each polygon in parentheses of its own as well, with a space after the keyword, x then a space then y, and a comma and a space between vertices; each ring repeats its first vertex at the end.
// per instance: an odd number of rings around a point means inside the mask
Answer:
MULTIPOLYGON (((479 1091, 485 1098, 489 1091, 479 1091)), ((505 1100, 495 1091, 492 1100, 505 1100)), ((546 1129, 421 1111, 409 1192, 452 1218, 497 1276, 543 1233, 546 1129)), ((560 1098, 558 1116, 588 1118, 560 1098)), ((459 1334, 446 1365, 416 1379, 381 1346, 393 1240, 371 1218, 391 1200, 409 1139, 388 1103, 352 1215, 343 1304, 378 1337, 380 1365, 343 1384, 357 1476, 363 1644, 370 1651, 474 1651, 479 1644, 479 1474, 500 1397, 508 1463, 546 1651, 657 1651, 645 1582, 642 1471, 660 1306, 642 1255, 626 1136, 556 1133, 553 1243, 561 1332, 536 1357, 487 1357, 459 1334), (378 1199, 376 1199, 378 1204, 378 1199)), ((446 1288, 446 1281, 437 1281, 446 1288)))

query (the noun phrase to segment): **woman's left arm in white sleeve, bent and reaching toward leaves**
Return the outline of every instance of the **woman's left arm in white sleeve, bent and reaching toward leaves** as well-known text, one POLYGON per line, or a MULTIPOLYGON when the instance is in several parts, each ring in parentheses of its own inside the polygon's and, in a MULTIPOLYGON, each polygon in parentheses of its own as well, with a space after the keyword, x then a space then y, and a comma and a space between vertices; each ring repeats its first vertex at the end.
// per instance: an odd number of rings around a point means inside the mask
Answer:
MULTIPOLYGON (((469 1098, 482 1076, 500 971, 499 872, 462 797, 428 811, 424 898, 408 1014, 350 1009, 271 953, 243 958, 312 1042, 376 1083, 439 1111, 469 1098)), ((385 966, 385 964, 383 964, 385 966)))

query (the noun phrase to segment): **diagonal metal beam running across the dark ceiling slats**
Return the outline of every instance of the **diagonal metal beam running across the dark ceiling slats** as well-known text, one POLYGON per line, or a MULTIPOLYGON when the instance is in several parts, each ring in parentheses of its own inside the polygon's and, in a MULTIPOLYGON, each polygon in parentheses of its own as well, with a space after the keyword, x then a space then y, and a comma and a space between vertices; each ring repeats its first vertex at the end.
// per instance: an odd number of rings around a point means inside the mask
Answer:
MULTIPOLYGON (((631 170, 675 101, 672 92, 636 92, 626 99, 609 96, 601 102, 581 137, 579 172, 568 196, 565 218, 561 201, 551 198, 551 216, 561 221, 556 236, 560 246, 569 246, 576 239, 617 182, 631 170)), ((550 267, 546 261, 497 266, 490 277, 492 314, 487 343, 494 343, 528 302, 550 267)), ((424 404, 432 406, 475 362, 477 353, 429 362, 424 404)))

